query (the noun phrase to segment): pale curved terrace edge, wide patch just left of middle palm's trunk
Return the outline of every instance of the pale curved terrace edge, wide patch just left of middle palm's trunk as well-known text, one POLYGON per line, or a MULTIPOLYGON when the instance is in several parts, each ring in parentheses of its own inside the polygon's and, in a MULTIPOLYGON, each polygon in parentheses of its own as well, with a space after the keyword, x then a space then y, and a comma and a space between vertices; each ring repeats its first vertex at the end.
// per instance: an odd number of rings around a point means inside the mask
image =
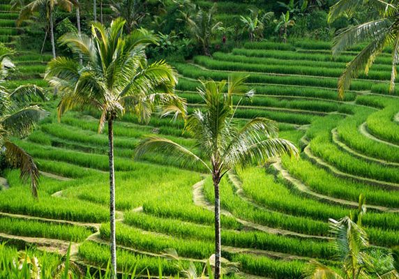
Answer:
MULTIPOLYGON (((195 185, 193 186, 193 202, 196 206, 200 206, 209 211, 214 211, 213 205, 210 204, 204 196, 204 183, 205 183, 205 180, 202 180, 202 181, 199 181, 198 183, 195 183, 195 185)), ((313 236, 313 235, 309 235, 309 234, 301 234, 299 232, 291 232, 286 229, 276 229, 273 227, 266 227, 264 225, 259 225, 256 223, 252 223, 252 222, 237 218, 236 216, 234 216, 229 211, 226 211, 225 209, 220 209, 220 213, 225 216, 229 216, 229 217, 236 219, 237 222, 241 223, 245 227, 248 227, 251 229, 256 229, 261 232, 266 232, 268 234, 287 235, 287 236, 300 237, 303 239, 323 239, 323 240, 331 239, 330 237, 327 237, 327 236, 313 236)))

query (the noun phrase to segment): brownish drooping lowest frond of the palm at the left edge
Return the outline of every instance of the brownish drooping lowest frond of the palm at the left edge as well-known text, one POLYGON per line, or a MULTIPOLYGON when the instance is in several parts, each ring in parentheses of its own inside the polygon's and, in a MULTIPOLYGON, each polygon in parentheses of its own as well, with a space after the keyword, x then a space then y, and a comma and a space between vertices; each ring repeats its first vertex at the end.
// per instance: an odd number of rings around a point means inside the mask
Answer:
POLYGON ((6 158, 10 165, 20 168, 21 179, 24 181, 30 179, 31 192, 34 197, 38 197, 40 173, 31 156, 24 149, 8 140, 4 142, 4 147, 6 148, 6 158))

